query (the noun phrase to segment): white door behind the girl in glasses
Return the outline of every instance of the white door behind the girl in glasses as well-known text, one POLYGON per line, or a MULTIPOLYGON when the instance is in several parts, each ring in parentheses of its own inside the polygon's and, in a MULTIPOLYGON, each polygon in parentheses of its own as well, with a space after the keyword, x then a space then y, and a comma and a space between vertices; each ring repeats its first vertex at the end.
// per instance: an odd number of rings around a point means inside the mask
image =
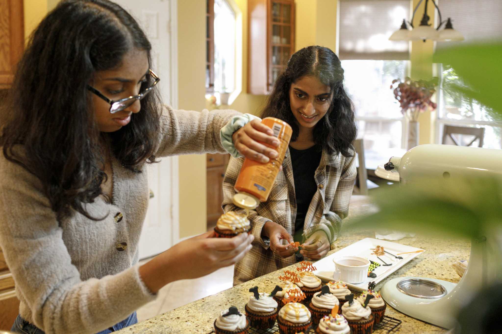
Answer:
MULTIPOLYGON (((114 0, 141 25, 152 44, 152 70, 161 81, 162 101, 176 106, 176 0, 114 0)), ((148 165, 150 199, 140 238, 140 259, 159 254, 179 239, 178 158, 148 165)))

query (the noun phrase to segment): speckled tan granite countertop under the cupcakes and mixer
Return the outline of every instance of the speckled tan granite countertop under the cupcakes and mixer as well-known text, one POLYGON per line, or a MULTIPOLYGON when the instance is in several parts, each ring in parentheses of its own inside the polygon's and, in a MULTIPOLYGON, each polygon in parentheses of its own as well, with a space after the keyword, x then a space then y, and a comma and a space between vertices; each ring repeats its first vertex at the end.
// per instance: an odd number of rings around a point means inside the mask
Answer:
MULTIPOLYGON (((346 218, 347 222, 356 216, 370 212, 373 208, 369 204, 368 196, 352 196, 350 203, 350 213, 346 218)), ((346 222, 344 222, 346 223, 346 222)), ((358 231, 357 233, 344 232, 336 241, 336 248, 329 253, 336 252, 356 241, 371 237, 374 238, 374 231, 358 231)), ((470 242, 453 238, 431 238, 431 237, 406 237, 398 243, 423 248, 426 251, 406 263, 404 266, 389 275, 386 279, 376 285, 376 290, 392 278, 403 276, 424 276, 439 278, 458 283, 460 277, 453 270, 451 263, 468 259, 470 253, 470 242)), ((296 265, 292 265, 294 270, 296 265)), ((261 291, 272 291, 278 283, 278 276, 283 273, 281 270, 271 272, 261 277, 255 278, 240 285, 231 287, 224 291, 193 301, 184 306, 178 307, 167 313, 158 315, 151 319, 126 327, 121 331, 127 333, 210 333, 213 328, 214 319, 219 312, 229 306, 237 306, 241 311, 249 298, 249 288, 258 285, 261 291)), ((402 320, 400 328, 395 332, 402 333, 442 333, 446 330, 417 320, 405 315, 392 306, 388 305, 386 315, 402 320)), ((375 333, 384 333, 384 330, 375 330, 375 333)))

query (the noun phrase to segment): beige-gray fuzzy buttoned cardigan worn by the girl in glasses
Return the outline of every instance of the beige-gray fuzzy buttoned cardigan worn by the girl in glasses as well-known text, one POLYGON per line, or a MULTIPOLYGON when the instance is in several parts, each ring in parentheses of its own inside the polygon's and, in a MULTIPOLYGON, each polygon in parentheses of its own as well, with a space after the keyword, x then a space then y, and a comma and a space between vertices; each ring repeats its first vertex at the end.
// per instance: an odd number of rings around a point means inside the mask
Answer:
MULTIPOLYGON (((164 108, 156 156, 224 152, 219 131, 236 114, 164 108)), ((92 216, 107 217, 92 221, 74 211, 58 221, 40 180, 0 153, 0 246, 21 316, 48 334, 98 332, 156 298, 137 264, 147 168, 135 174, 112 160, 112 203, 99 196, 86 205, 92 216), (119 212, 122 219, 114 219, 119 212)))

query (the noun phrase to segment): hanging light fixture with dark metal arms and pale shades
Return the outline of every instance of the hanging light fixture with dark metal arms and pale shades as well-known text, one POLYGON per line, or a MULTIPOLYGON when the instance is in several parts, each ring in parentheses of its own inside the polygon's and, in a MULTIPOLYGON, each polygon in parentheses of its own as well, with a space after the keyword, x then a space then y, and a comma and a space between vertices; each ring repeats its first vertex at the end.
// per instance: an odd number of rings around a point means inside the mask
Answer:
POLYGON ((442 41, 442 42, 450 42, 450 41, 463 41, 464 37, 462 34, 453 29, 451 24, 451 18, 448 18, 445 21, 441 20, 441 11, 439 7, 436 5, 434 0, 431 0, 434 4, 434 7, 438 10, 439 14, 439 25, 436 29, 434 29, 431 25, 429 25, 430 17, 427 15, 427 5, 429 4, 429 0, 425 0, 425 10, 424 15, 422 16, 422 21, 420 21, 420 26, 413 27, 413 19, 415 18, 415 13, 418 10, 418 7, 424 0, 420 0, 420 2, 415 7, 413 11, 413 16, 411 18, 411 22, 408 22, 408 25, 412 28, 408 29, 406 20, 403 20, 403 24, 401 28, 391 35, 389 40, 391 41, 418 41, 423 40, 432 40, 432 41, 442 41), (441 26, 446 23, 443 30, 439 30, 441 26))

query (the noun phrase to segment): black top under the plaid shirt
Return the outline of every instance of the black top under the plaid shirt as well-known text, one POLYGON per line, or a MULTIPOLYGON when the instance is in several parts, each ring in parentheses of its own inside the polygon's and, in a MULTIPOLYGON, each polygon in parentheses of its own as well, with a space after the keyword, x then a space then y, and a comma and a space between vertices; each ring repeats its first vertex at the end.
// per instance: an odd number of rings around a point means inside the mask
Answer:
POLYGON ((314 179, 315 171, 321 162, 322 150, 319 145, 314 145, 306 150, 296 150, 289 147, 291 163, 293 165, 293 178, 295 179, 296 194, 296 220, 295 241, 302 241, 303 224, 309 209, 312 197, 317 191, 314 179))

